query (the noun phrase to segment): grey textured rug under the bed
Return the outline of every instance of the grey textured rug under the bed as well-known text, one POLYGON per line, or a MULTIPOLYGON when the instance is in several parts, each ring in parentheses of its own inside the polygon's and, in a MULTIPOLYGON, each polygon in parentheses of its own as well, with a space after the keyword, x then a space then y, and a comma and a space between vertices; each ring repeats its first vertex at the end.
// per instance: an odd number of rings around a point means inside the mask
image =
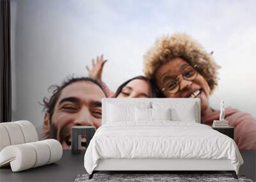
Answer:
POLYGON ((78 175, 75 182, 84 181, 248 181, 244 176, 234 179, 232 174, 94 174, 92 179, 88 179, 89 174, 78 175))

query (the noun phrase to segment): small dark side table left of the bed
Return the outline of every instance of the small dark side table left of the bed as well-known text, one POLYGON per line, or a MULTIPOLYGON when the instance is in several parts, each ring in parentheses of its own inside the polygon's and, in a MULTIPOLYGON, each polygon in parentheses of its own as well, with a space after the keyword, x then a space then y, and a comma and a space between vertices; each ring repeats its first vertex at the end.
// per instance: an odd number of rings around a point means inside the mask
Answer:
POLYGON ((81 135, 86 135, 86 148, 88 148, 95 131, 96 128, 94 126, 72 126, 71 153, 79 154, 81 152, 81 135))

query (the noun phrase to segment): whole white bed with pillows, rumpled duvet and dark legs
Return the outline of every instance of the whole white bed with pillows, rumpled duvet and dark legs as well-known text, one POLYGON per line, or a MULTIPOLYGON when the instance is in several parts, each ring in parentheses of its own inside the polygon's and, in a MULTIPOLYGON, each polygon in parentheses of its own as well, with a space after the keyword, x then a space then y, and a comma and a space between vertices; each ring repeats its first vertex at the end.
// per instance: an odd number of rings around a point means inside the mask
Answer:
POLYGON ((84 155, 99 171, 227 171, 243 158, 230 137, 200 123, 198 98, 106 98, 84 155))

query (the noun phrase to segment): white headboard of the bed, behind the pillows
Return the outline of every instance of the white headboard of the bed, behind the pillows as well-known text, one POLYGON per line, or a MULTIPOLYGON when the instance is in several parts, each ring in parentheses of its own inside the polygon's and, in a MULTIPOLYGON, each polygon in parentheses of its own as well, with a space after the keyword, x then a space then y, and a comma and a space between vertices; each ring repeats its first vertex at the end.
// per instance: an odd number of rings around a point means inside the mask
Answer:
POLYGON ((140 103, 148 103, 150 104, 150 107, 152 108, 151 103, 152 102, 170 102, 170 103, 180 103, 180 102, 184 102, 184 104, 186 103, 191 103, 191 102, 195 102, 196 105, 196 110, 195 110, 195 114, 196 114, 196 123, 201 123, 201 106, 200 106, 200 98, 103 98, 102 99, 102 125, 104 123, 106 123, 106 115, 107 115, 107 111, 106 111, 106 106, 108 103, 115 103, 115 104, 122 104, 122 103, 134 103, 136 104, 140 104, 140 103))

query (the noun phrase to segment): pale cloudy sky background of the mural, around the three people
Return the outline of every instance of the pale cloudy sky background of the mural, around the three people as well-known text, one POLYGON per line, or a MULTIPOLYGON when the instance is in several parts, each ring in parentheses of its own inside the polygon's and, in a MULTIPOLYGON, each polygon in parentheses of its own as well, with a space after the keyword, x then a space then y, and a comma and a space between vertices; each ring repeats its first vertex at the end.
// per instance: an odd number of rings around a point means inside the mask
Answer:
POLYGON ((13 119, 42 125, 47 88, 104 54, 103 79, 113 91, 142 74, 157 37, 181 31, 214 51, 220 84, 211 97, 256 118, 255 1, 11 1, 13 119))

